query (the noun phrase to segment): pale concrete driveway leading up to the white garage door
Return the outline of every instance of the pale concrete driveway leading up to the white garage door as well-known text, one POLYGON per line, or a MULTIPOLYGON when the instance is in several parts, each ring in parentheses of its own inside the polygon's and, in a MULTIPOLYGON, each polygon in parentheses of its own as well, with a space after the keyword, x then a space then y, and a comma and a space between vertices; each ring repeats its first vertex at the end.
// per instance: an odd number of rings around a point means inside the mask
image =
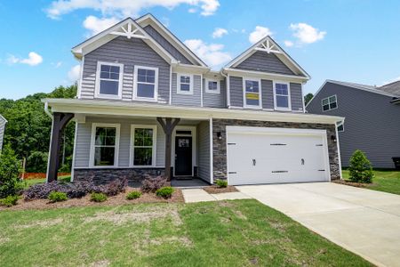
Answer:
POLYGON ((380 266, 400 266, 400 196, 332 182, 237 186, 380 266))

